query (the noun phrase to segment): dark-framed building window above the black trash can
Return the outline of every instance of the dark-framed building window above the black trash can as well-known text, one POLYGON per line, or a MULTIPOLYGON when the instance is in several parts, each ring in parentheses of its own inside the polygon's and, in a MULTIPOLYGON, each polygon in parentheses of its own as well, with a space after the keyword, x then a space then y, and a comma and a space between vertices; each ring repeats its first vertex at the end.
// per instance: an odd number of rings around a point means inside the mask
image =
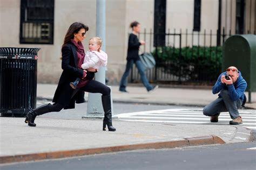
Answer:
POLYGON ((54 0, 21 0, 19 43, 53 44, 54 0))

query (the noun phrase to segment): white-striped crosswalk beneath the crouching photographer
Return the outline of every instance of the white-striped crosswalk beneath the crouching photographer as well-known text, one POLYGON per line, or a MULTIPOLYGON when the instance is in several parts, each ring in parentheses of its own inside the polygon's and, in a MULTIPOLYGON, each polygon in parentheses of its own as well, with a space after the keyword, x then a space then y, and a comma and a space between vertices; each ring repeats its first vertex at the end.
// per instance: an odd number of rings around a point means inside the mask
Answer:
MULTIPOLYGON (((242 117, 242 126, 256 129, 256 110, 239 110, 242 117)), ((211 123, 210 117, 203 115, 203 109, 165 109, 140 111, 117 115, 122 121, 156 122, 173 124, 229 124, 231 121, 228 112, 221 112, 218 123, 211 123), (187 121, 190 120, 190 121, 187 121)))

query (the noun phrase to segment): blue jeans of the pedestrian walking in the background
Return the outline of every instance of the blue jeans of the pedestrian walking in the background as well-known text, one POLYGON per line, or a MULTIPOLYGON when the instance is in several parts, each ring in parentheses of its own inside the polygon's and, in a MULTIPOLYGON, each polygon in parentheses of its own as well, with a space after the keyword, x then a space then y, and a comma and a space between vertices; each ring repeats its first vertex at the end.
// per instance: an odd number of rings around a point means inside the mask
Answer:
MULTIPOLYGON (((120 87, 119 87, 120 91, 124 91, 126 86, 127 86, 127 76, 129 76, 130 69, 132 68, 133 63, 134 63, 133 60, 127 60, 125 72, 124 72, 124 74, 122 76, 122 79, 120 81, 120 87)), ((135 65, 136 65, 136 67, 139 71, 140 79, 142 80, 142 83, 146 87, 147 91, 151 90, 153 88, 153 86, 147 80, 146 74, 144 73, 145 68, 143 66, 142 61, 136 60, 135 65)))

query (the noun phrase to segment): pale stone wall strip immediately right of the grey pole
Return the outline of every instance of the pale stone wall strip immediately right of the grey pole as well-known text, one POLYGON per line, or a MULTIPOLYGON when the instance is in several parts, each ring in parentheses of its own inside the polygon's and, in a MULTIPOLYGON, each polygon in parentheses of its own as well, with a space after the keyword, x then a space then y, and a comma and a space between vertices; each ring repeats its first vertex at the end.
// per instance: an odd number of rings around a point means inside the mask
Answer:
POLYGON ((106 1, 106 53, 108 55, 106 76, 117 84, 123 74, 126 55, 126 2, 106 1))

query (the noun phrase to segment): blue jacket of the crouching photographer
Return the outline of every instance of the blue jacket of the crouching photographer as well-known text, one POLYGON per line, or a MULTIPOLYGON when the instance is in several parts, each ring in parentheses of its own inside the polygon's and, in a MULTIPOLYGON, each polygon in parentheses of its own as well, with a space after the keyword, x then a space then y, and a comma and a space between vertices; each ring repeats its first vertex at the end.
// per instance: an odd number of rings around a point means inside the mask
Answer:
MULTIPOLYGON (((241 99, 241 101, 244 100, 244 93, 245 89, 247 87, 247 83, 244 78, 242 78, 242 74, 240 71, 238 71, 239 77, 237 81, 235 81, 233 84, 226 85, 225 83, 221 83, 221 75, 226 75, 226 72, 223 72, 219 75, 217 82, 212 87, 212 93, 217 94, 220 92, 220 90, 228 90, 228 94, 230 95, 230 98, 233 101, 236 101, 238 99, 241 99)), ((219 94, 219 97, 221 95, 219 94)))

